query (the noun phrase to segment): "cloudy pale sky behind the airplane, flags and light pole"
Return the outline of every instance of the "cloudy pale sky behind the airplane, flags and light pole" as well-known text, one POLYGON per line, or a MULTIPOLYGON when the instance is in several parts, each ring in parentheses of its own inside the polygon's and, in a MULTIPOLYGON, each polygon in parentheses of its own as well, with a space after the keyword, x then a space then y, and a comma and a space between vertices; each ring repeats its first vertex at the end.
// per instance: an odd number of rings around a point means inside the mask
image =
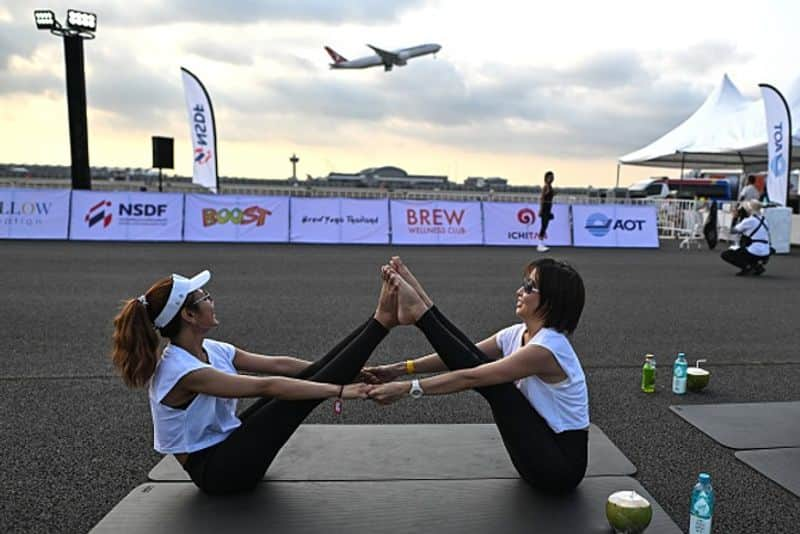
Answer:
MULTIPOLYGON (((502 176, 613 185, 616 160, 687 118, 728 73, 798 75, 800 3, 117 0, 0 3, 0 162, 69 164, 61 40, 34 7, 98 14, 85 43, 90 161, 147 167, 150 137, 175 138, 191 173, 180 67, 214 103, 220 174, 356 172, 502 176), (406 67, 333 71, 365 44, 439 43, 406 67)), ((662 169, 624 168, 621 185, 662 169)))

